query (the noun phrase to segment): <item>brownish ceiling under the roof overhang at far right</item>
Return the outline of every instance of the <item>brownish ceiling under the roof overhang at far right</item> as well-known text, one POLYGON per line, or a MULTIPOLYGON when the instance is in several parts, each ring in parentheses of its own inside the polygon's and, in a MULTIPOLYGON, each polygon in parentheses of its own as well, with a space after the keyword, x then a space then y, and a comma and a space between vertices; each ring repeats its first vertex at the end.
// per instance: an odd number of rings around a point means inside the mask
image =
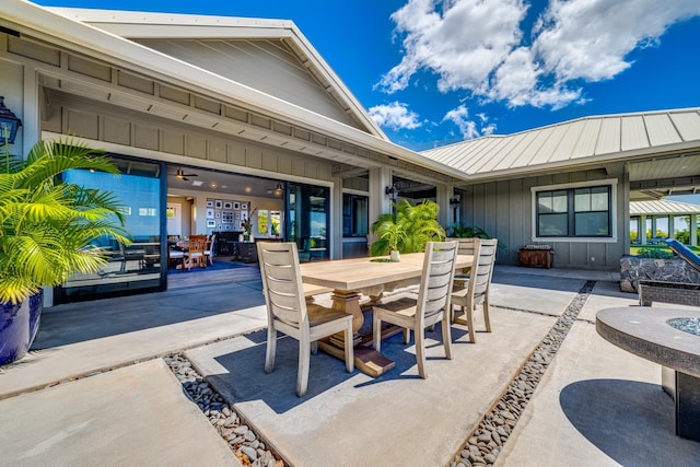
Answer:
POLYGON ((660 156, 628 165, 630 200, 700 192, 700 154, 660 156))

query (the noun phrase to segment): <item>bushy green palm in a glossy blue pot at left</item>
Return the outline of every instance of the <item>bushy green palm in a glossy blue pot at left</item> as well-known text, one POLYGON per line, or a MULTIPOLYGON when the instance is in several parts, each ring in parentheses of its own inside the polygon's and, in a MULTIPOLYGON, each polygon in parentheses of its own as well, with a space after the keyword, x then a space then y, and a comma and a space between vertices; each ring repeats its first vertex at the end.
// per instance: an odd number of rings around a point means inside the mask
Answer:
MULTIPOLYGON (((7 139, 5 139, 7 141, 7 139)), ((68 184, 59 175, 85 168, 118 174, 101 151, 80 143, 39 141, 26 160, 4 145, 0 157, 0 365, 22 357, 38 329, 43 287, 74 272, 96 272, 106 252, 101 235, 129 244, 110 192, 68 184)))

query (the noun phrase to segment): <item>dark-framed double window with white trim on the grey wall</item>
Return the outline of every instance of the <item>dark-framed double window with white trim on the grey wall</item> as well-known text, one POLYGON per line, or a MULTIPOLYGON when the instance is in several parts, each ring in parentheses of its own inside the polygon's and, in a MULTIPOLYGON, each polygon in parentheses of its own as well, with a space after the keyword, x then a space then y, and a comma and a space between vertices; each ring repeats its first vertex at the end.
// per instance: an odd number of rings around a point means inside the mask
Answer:
POLYGON ((538 237, 611 237, 611 185, 535 191, 538 237))

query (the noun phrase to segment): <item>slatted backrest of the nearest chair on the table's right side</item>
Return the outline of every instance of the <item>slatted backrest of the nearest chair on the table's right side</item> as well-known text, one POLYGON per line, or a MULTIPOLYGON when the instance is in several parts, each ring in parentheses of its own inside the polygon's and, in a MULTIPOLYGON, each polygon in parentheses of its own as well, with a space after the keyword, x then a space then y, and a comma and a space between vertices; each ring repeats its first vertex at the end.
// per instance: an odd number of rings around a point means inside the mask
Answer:
POLYGON ((445 310, 455 278, 458 242, 428 242, 418 291, 417 319, 445 310), (422 315, 422 317, 421 317, 422 315))

